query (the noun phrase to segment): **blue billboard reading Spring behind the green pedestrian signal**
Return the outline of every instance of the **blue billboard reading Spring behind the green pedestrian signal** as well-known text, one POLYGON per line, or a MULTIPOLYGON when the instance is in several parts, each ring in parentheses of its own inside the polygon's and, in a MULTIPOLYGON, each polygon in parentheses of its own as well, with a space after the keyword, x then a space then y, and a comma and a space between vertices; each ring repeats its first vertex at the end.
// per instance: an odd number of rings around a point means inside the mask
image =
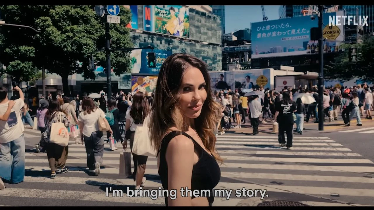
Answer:
POLYGON ((132 74, 158 75, 161 65, 172 54, 168 50, 153 50, 156 53, 156 68, 148 68, 148 52, 151 52, 151 49, 132 50, 130 54, 132 74))

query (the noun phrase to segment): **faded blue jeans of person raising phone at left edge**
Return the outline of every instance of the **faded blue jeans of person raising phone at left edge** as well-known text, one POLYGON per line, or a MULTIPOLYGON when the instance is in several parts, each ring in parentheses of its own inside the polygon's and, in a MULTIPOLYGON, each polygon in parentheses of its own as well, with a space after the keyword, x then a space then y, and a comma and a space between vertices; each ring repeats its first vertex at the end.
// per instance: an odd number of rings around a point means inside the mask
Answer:
POLYGON ((0 177, 13 184, 23 182, 25 176, 25 139, 18 137, 0 143, 0 177))

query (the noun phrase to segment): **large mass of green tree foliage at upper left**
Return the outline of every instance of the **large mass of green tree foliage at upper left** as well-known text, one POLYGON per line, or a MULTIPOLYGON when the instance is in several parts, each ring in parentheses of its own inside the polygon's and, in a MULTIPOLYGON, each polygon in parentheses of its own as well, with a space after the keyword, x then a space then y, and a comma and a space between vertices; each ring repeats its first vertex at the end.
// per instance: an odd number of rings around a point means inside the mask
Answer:
MULTIPOLYGON (((84 73, 94 79, 88 70, 89 55, 105 46, 105 17, 99 17, 94 5, 47 5, 47 6, 1 6, 5 21, 10 24, 28 25, 30 29, 1 27, 0 62, 7 66, 0 74, 19 75, 19 80, 31 80, 41 68, 47 73, 61 76, 65 93, 68 76, 84 73), (4 38, 3 38, 4 37, 4 38), (83 64, 80 65, 79 63, 83 64)), ((121 6, 121 24, 110 24, 112 49, 132 47, 129 29, 129 9, 121 6)), ((98 53, 97 65, 106 66, 105 53, 98 53)), ((111 66, 119 75, 129 72, 129 52, 111 53, 111 66)))

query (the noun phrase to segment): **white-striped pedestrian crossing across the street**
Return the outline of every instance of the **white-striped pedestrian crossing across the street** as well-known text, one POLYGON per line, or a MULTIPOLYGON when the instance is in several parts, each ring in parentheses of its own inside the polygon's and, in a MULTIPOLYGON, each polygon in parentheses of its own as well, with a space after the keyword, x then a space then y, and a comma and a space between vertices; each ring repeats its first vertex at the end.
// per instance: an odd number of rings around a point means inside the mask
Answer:
MULTIPOLYGON (((72 142, 73 143, 73 142, 72 142)), ((260 198, 236 197, 236 189, 266 189, 264 200, 291 200, 310 206, 373 206, 374 163, 327 137, 295 136, 291 150, 279 148, 277 136, 219 135, 217 150, 224 163, 215 189, 233 189, 230 199, 216 197, 213 206, 256 206, 260 198), (297 195, 300 194, 300 195, 297 195), (296 196, 295 196, 296 195, 296 196), (325 199, 321 199, 325 198, 325 199), (329 200, 328 200, 329 199, 329 200), (344 202, 343 202, 344 201, 344 202), (346 204, 350 203, 350 204, 346 204)), ((119 153, 105 144, 99 176, 88 176, 83 145, 69 145, 70 171, 50 179, 46 153, 27 151, 25 180, 0 190, 0 205, 164 206, 163 197, 126 197, 132 179, 119 175, 119 153), (106 189, 123 189, 123 197, 107 197, 106 189), (33 203, 29 198, 33 198, 33 203), (12 200, 15 199, 15 200, 12 200), (15 201, 17 201, 15 203, 15 201), (71 201, 71 202, 67 202, 71 201), (22 203, 24 202, 24 203, 22 203), (49 204, 50 205, 50 204, 49 204)), ((148 157, 146 189, 161 186, 157 159, 148 157)))

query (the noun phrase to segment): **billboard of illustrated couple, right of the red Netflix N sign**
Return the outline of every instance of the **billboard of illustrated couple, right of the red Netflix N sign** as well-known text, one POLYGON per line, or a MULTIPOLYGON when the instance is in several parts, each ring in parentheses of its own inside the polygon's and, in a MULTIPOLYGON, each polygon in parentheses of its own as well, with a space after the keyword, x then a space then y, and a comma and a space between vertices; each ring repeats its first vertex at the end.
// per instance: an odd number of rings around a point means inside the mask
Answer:
POLYGON ((190 37, 188 8, 180 5, 144 5, 144 31, 190 37))

